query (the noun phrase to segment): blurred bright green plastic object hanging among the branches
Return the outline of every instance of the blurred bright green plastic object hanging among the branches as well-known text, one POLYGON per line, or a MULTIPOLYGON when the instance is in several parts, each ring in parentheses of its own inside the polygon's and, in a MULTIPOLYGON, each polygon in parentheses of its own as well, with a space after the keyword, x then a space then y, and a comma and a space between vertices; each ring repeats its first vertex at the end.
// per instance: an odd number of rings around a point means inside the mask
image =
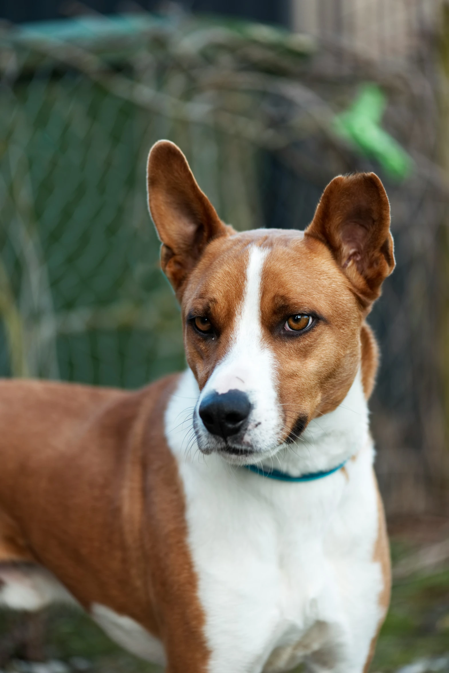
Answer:
POLYGON ((385 107, 386 96, 380 87, 364 84, 349 110, 335 116, 334 130, 374 157, 391 178, 403 180, 410 174, 413 160, 380 126, 385 107))

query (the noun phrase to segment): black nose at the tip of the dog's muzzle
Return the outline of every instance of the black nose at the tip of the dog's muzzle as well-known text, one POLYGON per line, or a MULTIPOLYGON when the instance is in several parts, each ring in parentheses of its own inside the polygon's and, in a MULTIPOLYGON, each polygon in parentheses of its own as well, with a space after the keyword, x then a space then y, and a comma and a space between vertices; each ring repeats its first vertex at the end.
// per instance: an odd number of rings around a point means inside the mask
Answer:
POLYGON ((229 390, 223 394, 210 392, 200 404, 200 419, 212 435, 223 439, 236 435, 251 411, 245 392, 229 390))

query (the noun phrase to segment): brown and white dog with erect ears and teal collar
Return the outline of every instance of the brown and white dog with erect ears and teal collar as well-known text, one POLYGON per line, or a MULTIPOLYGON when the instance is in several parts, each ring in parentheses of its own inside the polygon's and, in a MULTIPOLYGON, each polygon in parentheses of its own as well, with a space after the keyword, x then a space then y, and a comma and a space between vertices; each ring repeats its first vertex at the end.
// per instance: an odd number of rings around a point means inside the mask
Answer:
POLYGON ((339 176, 305 232, 238 234, 172 143, 148 186, 189 369, 1 382, 0 603, 77 602, 169 673, 366 671, 390 591, 364 322, 395 265, 384 188, 339 176))

